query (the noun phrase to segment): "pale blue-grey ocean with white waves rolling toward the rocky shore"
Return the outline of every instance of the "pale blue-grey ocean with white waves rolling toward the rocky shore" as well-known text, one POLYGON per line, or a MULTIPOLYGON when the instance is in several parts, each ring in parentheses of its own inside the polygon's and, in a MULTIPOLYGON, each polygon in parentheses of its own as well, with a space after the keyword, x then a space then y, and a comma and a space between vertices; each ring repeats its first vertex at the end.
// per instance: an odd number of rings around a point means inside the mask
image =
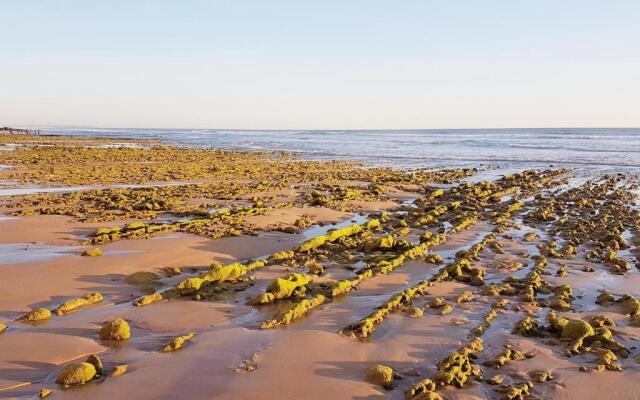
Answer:
POLYGON ((640 128, 226 130, 40 128, 42 133, 159 139, 181 146, 277 150, 371 166, 640 170, 640 128))

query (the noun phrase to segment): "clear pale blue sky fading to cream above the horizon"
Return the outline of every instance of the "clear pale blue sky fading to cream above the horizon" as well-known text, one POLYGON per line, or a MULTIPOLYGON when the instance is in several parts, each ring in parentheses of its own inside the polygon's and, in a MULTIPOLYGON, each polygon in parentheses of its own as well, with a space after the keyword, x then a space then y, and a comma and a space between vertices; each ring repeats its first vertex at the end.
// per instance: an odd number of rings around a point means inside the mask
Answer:
POLYGON ((0 0, 0 125, 640 127, 638 0, 0 0))

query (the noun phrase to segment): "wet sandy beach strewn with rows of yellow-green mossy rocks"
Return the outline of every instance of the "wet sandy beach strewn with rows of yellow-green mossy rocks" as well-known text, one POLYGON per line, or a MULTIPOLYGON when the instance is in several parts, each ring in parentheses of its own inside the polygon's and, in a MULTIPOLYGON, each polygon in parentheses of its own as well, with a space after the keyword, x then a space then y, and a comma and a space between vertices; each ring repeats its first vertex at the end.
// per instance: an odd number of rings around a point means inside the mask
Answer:
POLYGON ((636 176, 0 146, 0 398, 638 396, 636 176))

